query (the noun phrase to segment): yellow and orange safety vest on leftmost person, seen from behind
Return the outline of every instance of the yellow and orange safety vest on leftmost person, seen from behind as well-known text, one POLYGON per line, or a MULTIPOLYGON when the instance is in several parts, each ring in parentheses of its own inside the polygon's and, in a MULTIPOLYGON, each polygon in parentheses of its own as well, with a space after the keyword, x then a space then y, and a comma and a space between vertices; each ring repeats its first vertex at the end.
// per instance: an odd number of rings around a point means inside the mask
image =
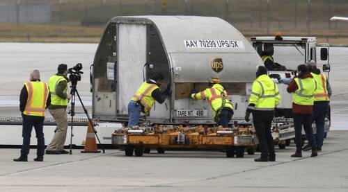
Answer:
POLYGON ((49 95, 48 85, 45 82, 35 81, 24 83, 28 98, 23 114, 29 116, 45 116, 46 103, 49 95))

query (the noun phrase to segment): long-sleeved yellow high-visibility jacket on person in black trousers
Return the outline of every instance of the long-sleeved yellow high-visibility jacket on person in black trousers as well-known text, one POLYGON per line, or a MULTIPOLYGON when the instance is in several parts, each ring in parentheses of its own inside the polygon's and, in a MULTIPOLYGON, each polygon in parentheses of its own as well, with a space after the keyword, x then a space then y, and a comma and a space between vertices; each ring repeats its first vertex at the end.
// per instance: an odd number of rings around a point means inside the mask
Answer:
POLYGON ((276 83, 267 75, 261 75, 253 82, 248 109, 273 111, 279 104, 280 94, 276 83), (254 104, 255 106, 251 106, 254 104))

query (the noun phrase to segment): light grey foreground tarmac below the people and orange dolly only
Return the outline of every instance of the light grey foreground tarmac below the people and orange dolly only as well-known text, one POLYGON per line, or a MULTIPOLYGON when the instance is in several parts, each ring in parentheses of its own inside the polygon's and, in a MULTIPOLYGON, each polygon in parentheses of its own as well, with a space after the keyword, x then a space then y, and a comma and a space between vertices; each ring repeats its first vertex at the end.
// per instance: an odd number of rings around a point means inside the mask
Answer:
POLYGON ((318 157, 292 158, 294 143, 276 162, 258 155, 155 150, 143 157, 105 154, 45 155, 45 162, 13 162, 19 149, 0 149, 0 191, 348 191, 348 132, 329 132, 318 157))

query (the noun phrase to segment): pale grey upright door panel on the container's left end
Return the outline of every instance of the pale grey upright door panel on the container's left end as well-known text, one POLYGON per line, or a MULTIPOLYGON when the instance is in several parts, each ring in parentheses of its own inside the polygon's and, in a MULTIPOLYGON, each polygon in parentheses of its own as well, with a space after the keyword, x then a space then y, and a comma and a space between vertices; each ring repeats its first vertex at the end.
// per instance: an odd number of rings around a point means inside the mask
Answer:
POLYGON ((120 24, 118 30, 117 114, 128 114, 128 103, 143 82, 146 62, 146 25, 120 24))

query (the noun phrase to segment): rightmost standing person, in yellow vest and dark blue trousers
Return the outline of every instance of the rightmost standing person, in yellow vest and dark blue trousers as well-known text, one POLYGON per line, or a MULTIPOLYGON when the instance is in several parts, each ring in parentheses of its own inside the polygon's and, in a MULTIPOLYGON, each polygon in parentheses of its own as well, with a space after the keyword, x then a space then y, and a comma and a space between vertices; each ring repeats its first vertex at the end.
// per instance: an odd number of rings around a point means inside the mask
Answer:
MULTIPOLYGON (((317 89, 314 93, 312 123, 315 122, 315 128, 317 131, 315 134, 317 150, 321 151, 324 141, 325 119, 329 113, 329 102, 332 90, 328 78, 326 78, 325 74, 322 73, 320 69, 317 69, 315 61, 311 60, 307 62, 306 65, 309 68, 310 74, 317 83, 317 89)), ((308 144, 303 147, 303 150, 310 150, 311 148, 312 145, 308 142, 308 144)))

